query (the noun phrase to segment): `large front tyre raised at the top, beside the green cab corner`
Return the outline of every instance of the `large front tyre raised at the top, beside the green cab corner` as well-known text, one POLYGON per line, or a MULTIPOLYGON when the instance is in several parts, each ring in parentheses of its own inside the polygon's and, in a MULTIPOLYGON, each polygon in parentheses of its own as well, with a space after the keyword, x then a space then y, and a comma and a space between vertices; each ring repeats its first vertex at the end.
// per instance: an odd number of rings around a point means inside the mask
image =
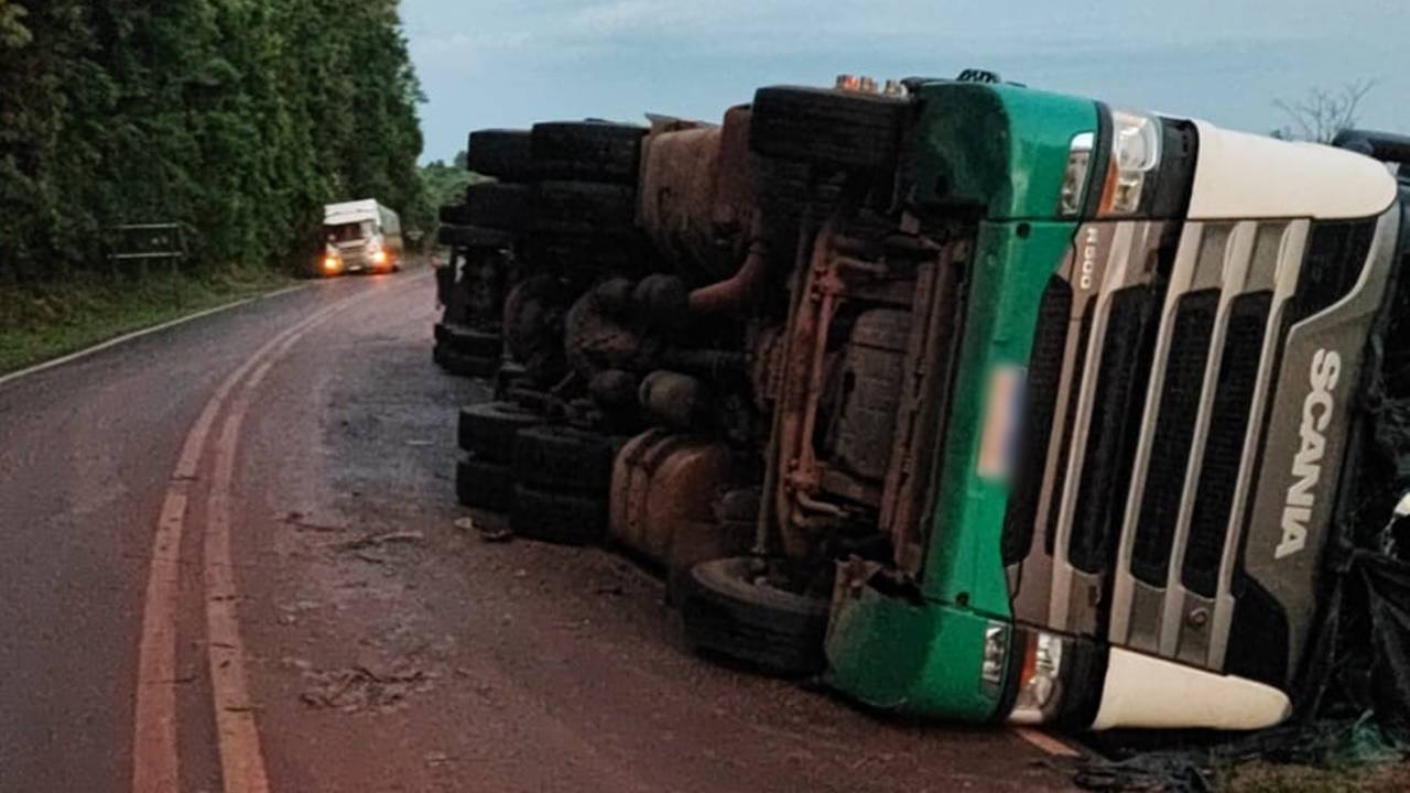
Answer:
POLYGON ((764 157, 842 169, 895 167, 909 100, 850 90, 771 86, 754 93, 750 147, 764 157))

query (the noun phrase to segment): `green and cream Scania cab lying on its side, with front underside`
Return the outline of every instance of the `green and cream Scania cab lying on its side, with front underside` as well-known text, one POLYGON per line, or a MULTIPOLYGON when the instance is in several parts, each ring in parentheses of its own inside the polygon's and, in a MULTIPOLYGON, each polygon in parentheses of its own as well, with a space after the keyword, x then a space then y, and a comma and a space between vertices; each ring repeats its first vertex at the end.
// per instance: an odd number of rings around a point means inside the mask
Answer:
POLYGON ((802 220, 759 547, 838 560, 825 679, 948 720, 1286 718, 1407 255, 1385 164, 997 82, 753 113, 756 151, 843 174, 802 220), (859 388, 894 420, 832 419, 888 450, 869 490, 809 384, 893 281, 902 363, 859 388))

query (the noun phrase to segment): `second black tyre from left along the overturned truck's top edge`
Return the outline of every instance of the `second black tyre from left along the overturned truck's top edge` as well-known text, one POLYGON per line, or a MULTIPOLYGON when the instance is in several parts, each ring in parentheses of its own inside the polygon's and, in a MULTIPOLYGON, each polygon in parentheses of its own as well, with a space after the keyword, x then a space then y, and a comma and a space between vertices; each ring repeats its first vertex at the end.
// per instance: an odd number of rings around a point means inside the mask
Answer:
POLYGON ((533 159, 541 179, 634 185, 646 128, 605 121, 534 124, 533 159))

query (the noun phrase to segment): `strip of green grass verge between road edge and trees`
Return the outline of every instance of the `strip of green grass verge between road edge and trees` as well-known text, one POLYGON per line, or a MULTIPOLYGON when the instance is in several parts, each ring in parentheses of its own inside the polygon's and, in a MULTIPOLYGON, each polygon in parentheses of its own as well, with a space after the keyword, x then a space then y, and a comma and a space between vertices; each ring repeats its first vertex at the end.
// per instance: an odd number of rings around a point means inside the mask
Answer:
POLYGON ((0 284, 0 374, 290 284, 264 267, 0 284))

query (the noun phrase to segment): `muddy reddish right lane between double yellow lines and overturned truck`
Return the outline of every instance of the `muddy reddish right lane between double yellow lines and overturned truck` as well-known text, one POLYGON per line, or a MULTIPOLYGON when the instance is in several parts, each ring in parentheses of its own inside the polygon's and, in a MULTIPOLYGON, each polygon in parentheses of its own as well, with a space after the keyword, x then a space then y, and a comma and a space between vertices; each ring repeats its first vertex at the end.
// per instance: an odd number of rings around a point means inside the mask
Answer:
POLYGON ((237 556, 275 789, 1067 787, 1011 732, 695 658, 619 556, 457 528, 455 408, 488 389, 431 364, 431 322, 424 293, 352 309, 275 373, 247 440, 237 556))

